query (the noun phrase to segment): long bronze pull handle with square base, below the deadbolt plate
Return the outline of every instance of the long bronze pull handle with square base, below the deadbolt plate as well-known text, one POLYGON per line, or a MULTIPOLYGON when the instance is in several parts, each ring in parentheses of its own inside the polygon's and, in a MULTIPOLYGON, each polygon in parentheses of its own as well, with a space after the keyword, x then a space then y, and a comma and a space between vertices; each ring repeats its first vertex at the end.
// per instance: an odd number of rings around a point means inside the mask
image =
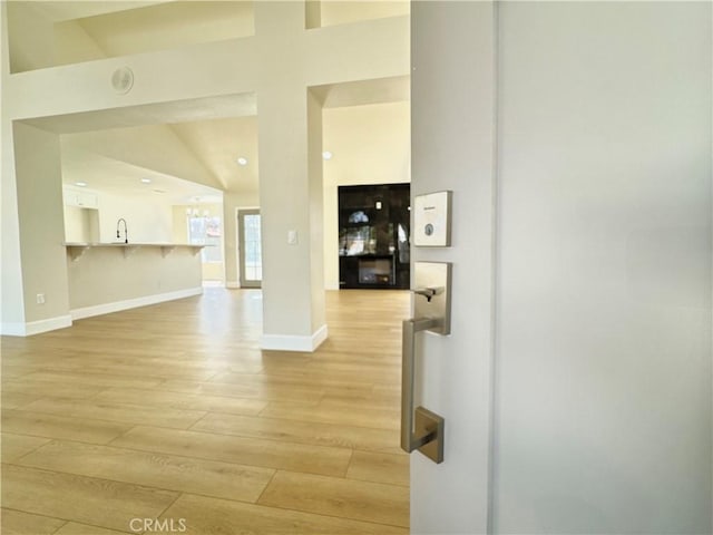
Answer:
POLYGON ((418 449, 436 463, 443 460, 445 420, 423 407, 413 408, 413 382, 416 377, 416 334, 420 331, 438 328, 441 323, 441 320, 433 318, 403 320, 403 343, 401 346, 401 449, 409 454, 418 449))

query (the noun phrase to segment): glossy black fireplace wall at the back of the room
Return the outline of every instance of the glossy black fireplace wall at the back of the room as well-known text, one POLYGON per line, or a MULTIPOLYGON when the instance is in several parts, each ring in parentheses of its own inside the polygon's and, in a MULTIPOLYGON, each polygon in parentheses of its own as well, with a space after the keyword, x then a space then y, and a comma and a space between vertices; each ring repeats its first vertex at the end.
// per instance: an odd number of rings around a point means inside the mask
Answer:
POLYGON ((410 288, 409 184, 339 187, 340 288, 410 288))

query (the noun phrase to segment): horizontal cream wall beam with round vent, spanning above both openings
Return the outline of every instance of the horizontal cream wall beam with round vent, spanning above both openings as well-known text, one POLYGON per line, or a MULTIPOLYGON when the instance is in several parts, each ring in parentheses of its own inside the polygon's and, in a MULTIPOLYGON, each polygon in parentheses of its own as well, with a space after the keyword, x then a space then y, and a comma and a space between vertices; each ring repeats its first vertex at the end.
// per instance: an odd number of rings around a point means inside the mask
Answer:
MULTIPOLYGON (((257 6, 265 2, 257 2, 257 6)), ((277 2, 266 2, 277 3, 277 2)), ((290 2, 284 2, 290 4, 290 2)), ((304 13, 301 13, 304 28, 304 13)), ((264 36, 216 41, 202 46, 146 52, 121 58, 88 61, 71 66, 25 72, 9 80, 3 90, 12 103, 14 118, 52 117, 130 106, 169 103, 212 96, 241 95, 255 91, 263 69, 274 61, 261 61, 260 54, 282 58, 300 51, 311 59, 297 67, 294 80, 304 87, 379 79, 408 74, 408 18, 393 17, 360 25, 324 28, 297 33, 302 47, 280 48, 282 41, 264 36), (359 40, 360 46, 354 42, 359 40), (319 58, 319 59, 318 59, 319 58), (240 65, 240 69, 227 68, 240 65), (119 67, 134 71, 131 90, 120 95, 111 88, 111 74, 119 67), (193 72, 187 77, 186 72, 193 72), (51 88, 51 91, 46 90, 51 88), (78 88, 80 88, 78 90, 78 88)), ((193 117, 214 117, 212 110, 193 117)))

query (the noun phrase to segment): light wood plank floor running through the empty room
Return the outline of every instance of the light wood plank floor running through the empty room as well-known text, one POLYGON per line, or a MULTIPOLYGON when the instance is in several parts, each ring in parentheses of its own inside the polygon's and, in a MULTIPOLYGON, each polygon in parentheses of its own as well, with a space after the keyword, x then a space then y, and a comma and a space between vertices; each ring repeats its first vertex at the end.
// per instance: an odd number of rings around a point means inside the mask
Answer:
POLYGON ((328 292, 312 354, 261 351, 260 291, 216 288, 2 338, 2 534, 408 533, 408 300, 328 292))

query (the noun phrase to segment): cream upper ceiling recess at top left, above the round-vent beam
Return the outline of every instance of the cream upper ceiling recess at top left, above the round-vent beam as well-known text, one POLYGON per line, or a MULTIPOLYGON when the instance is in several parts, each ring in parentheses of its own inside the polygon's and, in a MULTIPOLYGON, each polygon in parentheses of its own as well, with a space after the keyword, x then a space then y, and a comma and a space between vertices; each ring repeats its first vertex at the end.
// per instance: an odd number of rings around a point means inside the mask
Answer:
POLYGON ((180 48, 253 32, 251 2, 141 3, 152 2, 11 2, 12 71, 180 48))

